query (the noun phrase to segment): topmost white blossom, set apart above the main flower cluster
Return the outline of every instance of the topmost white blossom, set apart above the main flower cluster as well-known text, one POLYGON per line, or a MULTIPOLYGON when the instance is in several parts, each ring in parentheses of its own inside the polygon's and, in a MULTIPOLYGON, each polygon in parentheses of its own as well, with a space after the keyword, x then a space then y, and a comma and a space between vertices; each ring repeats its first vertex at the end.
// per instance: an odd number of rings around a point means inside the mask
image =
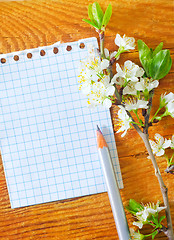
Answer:
POLYGON ((115 44, 124 50, 135 49, 135 39, 133 37, 126 37, 125 34, 121 37, 120 34, 117 33, 115 44))

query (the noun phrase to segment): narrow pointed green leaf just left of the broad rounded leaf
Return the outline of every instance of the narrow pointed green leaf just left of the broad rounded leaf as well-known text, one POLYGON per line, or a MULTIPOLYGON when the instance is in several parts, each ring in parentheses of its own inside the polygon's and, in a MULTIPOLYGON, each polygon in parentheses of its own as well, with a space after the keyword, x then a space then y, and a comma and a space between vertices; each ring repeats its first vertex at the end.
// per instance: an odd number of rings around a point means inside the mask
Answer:
POLYGON ((137 43, 138 43, 140 62, 144 67, 146 75, 149 77, 149 65, 152 59, 152 51, 142 40, 138 40, 137 43))

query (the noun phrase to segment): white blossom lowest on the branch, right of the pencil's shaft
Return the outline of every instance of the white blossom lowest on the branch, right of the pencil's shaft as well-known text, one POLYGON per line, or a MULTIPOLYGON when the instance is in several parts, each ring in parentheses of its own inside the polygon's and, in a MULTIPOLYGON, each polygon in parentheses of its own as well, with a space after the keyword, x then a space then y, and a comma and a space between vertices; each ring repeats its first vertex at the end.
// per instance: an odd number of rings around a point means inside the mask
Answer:
POLYGON ((156 205, 154 203, 147 204, 144 206, 144 209, 142 211, 136 213, 136 217, 139 221, 133 222, 133 225, 141 229, 143 227, 143 224, 146 224, 148 222, 148 218, 150 218, 152 215, 156 215, 164 209, 165 207, 159 207, 159 202, 157 202, 156 205))

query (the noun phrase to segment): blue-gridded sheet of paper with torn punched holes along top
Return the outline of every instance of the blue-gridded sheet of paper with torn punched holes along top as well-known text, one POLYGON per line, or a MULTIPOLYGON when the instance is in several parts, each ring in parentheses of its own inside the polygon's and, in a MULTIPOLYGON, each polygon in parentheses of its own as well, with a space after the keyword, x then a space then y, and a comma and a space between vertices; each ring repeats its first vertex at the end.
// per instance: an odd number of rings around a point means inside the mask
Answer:
POLYGON ((96 38, 88 38, 0 55, 6 59, 0 62, 1 152, 12 208, 106 191, 97 124, 123 187, 110 112, 88 109, 78 90, 78 67, 88 54, 87 44, 98 47, 96 38))

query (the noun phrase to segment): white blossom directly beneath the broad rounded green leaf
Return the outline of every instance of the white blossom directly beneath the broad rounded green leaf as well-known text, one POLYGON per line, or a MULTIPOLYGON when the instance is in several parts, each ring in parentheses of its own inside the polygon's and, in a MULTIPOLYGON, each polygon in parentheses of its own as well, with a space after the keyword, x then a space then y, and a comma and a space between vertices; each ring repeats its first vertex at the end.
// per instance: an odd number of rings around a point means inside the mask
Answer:
POLYGON ((150 92, 153 88, 157 88, 159 85, 158 80, 153 80, 151 78, 140 78, 140 82, 135 84, 137 91, 145 91, 146 89, 150 92))

